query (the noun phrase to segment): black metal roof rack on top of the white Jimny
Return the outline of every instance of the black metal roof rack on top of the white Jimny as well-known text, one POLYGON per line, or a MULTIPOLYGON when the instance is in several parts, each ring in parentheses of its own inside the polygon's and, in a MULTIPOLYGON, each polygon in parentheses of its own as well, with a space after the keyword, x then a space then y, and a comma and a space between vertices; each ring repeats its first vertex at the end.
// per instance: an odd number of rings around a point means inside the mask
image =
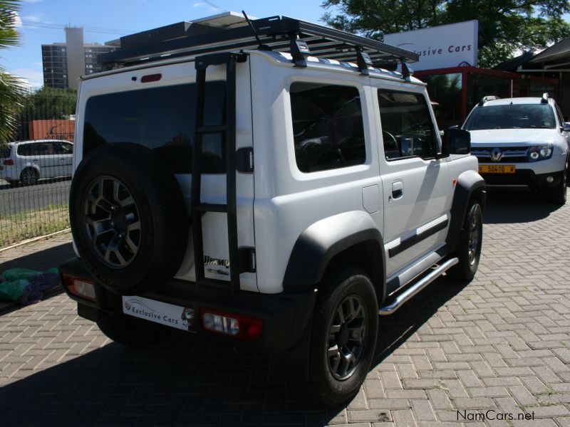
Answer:
MULTIPOLYGON (((204 23, 181 22, 120 38, 121 48, 102 53, 98 63, 103 70, 125 65, 153 62, 177 56, 255 49, 263 44, 272 51, 287 52, 298 66, 305 66, 307 56, 340 61, 353 61, 362 73, 368 66, 416 62, 419 55, 390 46, 371 38, 355 36, 346 31, 288 18, 271 16, 252 20, 259 36, 244 20, 243 26, 219 28, 204 23)), ((405 68, 403 66, 403 68, 405 68)))

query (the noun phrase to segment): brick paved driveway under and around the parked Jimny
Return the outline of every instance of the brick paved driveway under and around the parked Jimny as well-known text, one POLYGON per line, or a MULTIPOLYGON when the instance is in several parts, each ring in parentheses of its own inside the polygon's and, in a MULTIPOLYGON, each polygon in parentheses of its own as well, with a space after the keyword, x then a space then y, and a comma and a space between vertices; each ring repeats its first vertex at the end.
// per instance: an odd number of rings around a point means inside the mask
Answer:
POLYGON ((366 384, 334 410, 268 381, 262 354, 182 332, 125 349, 57 295, 0 315, 0 425, 570 426, 569 236, 570 204, 490 194, 476 279, 383 317, 366 384))

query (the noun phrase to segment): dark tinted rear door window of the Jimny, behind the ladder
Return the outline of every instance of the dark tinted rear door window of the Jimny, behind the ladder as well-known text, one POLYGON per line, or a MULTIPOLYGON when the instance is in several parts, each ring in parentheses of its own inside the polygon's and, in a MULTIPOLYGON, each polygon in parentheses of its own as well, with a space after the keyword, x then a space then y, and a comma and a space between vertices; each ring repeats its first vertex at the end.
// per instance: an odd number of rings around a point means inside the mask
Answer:
MULTIPOLYGON (((206 84, 204 124, 224 122, 226 85, 206 84)), ((132 90, 90 97, 83 126, 83 155, 116 142, 134 142, 164 158, 175 174, 192 172, 195 130, 195 84, 132 90)), ((225 172, 221 135, 202 137, 203 172, 225 172)))

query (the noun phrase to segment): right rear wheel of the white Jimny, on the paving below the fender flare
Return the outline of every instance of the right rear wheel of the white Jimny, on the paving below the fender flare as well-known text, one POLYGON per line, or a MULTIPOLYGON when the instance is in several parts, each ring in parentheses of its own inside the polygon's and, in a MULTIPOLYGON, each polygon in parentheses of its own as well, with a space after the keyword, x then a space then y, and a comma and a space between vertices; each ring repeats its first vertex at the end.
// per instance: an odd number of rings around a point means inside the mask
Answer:
POLYGON ((326 279, 311 333, 311 397, 341 404, 360 389, 378 334, 378 303, 366 273, 346 268, 326 279))

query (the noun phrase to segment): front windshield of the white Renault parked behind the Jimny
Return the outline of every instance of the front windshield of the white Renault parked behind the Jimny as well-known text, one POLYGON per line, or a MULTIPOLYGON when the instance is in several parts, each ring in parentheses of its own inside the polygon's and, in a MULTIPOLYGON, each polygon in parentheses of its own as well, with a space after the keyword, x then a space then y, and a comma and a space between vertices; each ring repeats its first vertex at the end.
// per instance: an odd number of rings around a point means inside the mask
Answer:
POLYGON ((554 112, 548 104, 510 104, 477 107, 465 122, 466 130, 554 129, 554 112))

